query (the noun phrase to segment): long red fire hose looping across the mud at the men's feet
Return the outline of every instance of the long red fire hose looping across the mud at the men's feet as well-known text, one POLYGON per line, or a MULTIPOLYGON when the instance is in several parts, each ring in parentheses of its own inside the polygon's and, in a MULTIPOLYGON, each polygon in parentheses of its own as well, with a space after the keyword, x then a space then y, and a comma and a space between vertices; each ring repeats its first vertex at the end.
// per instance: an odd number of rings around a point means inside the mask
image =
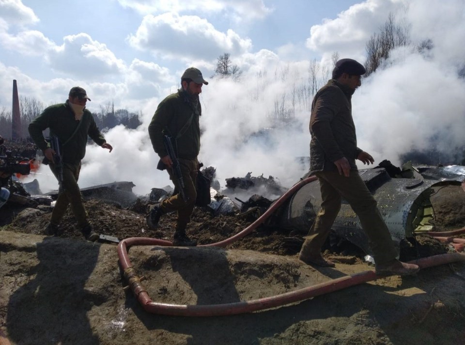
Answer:
MULTIPOLYGON (((304 185, 315 181, 315 176, 310 176, 296 183, 286 193, 284 193, 274 204, 272 204, 263 215, 258 218, 254 223, 249 225, 240 233, 217 243, 201 245, 198 247, 225 247, 234 241, 248 235, 258 225, 262 224, 279 206, 281 206, 290 196, 292 196, 299 188, 304 185)), ((435 233, 436 235, 439 233, 435 233)), ((152 301, 147 291, 143 287, 139 276, 137 276, 135 269, 131 266, 128 257, 128 249, 131 246, 172 246, 170 241, 165 241, 156 238, 147 237, 132 237, 122 240, 118 244, 118 256, 120 258, 120 265, 124 272, 124 278, 129 283, 128 287, 131 288, 134 295, 138 298, 142 308, 154 314, 174 315, 174 316, 220 316, 220 315, 233 315, 251 313, 259 310, 280 307, 286 304, 302 301, 305 299, 313 298, 316 296, 324 295, 334 291, 344 289, 346 287, 354 286, 364 282, 370 282, 380 278, 374 271, 368 270, 357 274, 344 276, 341 278, 333 279, 328 282, 323 282, 299 290, 287 292, 284 294, 254 299, 249 301, 240 301, 225 304, 205 304, 205 305, 184 305, 184 304, 168 304, 158 303, 152 301)), ((411 263, 417 264, 420 268, 434 267, 454 262, 465 261, 465 254, 458 252, 434 255, 426 258, 414 260, 411 263)))

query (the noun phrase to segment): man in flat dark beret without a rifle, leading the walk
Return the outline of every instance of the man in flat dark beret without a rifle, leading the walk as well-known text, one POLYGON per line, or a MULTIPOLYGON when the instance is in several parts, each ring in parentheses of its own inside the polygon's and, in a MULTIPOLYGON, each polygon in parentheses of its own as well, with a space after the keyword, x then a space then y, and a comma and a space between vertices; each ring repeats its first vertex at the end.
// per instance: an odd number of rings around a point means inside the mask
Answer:
POLYGON ((336 63, 332 79, 313 98, 310 116, 310 171, 318 177, 321 209, 310 228, 299 259, 309 265, 334 267, 321 248, 341 209, 344 198, 368 235, 378 275, 415 274, 419 267, 396 259, 397 251, 372 194, 358 174, 355 160, 373 163, 373 157, 357 147, 351 98, 361 76, 362 64, 352 59, 336 63))

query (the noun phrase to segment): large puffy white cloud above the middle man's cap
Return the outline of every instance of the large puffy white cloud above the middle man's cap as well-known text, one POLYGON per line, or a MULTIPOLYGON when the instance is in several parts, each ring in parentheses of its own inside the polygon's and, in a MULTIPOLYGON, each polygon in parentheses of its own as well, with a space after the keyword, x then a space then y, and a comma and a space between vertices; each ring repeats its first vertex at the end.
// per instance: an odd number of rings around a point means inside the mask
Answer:
POLYGON ((206 19, 173 13, 145 16, 128 42, 137 49, 182 61, 211 60, 225 51, 239 54, 252 46, 250 39, 243 39, 232 30, 217 31, 206 19))

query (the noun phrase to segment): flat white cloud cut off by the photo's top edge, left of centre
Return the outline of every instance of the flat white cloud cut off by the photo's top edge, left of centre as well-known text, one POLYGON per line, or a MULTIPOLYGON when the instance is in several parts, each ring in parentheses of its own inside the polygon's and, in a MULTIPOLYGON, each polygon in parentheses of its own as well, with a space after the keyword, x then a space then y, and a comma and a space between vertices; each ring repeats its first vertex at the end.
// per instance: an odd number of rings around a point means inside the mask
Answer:
POLYGON ((262 19, 272 9, 266 7, 263 0, 118 0, 123 7, 133 8, 142 15, 148 13, 219 13, 232 14, 236 20, 262 19))

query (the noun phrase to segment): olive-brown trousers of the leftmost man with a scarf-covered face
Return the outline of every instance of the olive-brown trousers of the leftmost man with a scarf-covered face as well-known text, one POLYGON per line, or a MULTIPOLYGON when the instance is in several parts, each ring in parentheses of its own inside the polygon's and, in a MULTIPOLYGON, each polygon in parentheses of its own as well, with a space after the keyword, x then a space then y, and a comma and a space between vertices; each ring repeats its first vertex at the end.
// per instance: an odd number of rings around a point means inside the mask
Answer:
MULTIPOLYGON (((50 170, 58 179, 58 172, 55 165, 48 163, 50 170)), ((82 195, 78 186, 79 172, 81 163, 78 164, 63 164, 63 191, 58 195, 55 207, 53 207, 50 223, 54 225, 60 224, 68 205, 71 204, 73 214, 78 220, 78 227, 82 229, 89 224, 87 210, 82 201, 82 195)))

